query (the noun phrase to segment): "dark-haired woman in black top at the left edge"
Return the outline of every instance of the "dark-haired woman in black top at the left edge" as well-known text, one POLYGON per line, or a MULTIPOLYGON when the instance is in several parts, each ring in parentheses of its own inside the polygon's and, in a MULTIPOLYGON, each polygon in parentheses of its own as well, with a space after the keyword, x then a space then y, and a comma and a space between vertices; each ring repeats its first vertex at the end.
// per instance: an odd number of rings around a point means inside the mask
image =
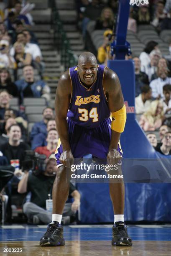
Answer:
POLYGON ((18 88, 12 82, 10 72, 6 68, 0 69, 0 90, 6 90, 13 97, 18 97, 18 88))

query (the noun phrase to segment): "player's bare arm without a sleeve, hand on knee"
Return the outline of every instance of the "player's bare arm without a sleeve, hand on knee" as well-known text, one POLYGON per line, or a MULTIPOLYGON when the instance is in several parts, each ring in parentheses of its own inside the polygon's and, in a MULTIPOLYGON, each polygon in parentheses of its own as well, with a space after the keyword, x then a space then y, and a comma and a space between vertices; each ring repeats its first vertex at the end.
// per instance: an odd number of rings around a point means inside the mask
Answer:
POLYGON ((63 148, 60 161, 67 167, 70 167, 69 159, 73 158, 69 144, 68 124, 66 121, 66 115, 68 113, 71 99, 71 92, 72 87, 69 72, 65 72, 61 75, 58 82, 58 87, 56 89, 55 119, 56 129, 59 133, 59 138, 63 148))

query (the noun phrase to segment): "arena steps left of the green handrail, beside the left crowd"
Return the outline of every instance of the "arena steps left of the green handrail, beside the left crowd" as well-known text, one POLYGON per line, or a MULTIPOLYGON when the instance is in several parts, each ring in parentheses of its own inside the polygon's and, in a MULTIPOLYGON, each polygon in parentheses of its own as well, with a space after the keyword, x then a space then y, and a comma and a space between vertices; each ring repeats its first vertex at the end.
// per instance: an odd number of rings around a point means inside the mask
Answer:
POLYGON ((35 33, 41 48, 45 64, 43 79, 51 88, 51 106, 54 107, 56 86, 60 74, 64 72, 64 67, 61 66, 61 56, 54 45, 54 34, 51 29, 51 8, 48 7, 48 0, 31 0, 29 2, 35 3, 35 8, 31 11, 35 25, 31 30, 35 33))

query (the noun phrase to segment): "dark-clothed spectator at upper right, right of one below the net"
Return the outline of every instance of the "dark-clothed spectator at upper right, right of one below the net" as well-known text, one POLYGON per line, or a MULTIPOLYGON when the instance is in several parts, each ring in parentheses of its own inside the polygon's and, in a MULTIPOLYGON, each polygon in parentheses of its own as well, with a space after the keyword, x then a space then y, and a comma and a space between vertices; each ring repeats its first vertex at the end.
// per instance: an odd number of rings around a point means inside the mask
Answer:
POLYGON ((161 22, 166 17, 164 13, 164 3, 163 1, 157 2, 156 11, 154 12, 154 18, 151 24, 157 29, 157 31, 161 30, 161 22))

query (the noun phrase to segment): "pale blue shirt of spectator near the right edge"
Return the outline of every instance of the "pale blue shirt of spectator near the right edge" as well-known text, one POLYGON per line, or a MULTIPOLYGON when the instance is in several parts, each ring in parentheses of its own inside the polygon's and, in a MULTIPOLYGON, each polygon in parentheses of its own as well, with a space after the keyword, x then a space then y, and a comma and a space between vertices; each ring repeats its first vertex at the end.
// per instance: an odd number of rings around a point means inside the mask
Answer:
POLYGON ((171 84, 171 77, 166 77, 166 79, 161 79, 160 77, 158 77, 157 79, 154 79, 153 81, 151 81, 150 83, 150 87, 152 90, 152 97, 153 98, 157 98, 158 95, 161 95, 161 98, 164 97, 163 95, 163 86, 165 84, 171 84))

